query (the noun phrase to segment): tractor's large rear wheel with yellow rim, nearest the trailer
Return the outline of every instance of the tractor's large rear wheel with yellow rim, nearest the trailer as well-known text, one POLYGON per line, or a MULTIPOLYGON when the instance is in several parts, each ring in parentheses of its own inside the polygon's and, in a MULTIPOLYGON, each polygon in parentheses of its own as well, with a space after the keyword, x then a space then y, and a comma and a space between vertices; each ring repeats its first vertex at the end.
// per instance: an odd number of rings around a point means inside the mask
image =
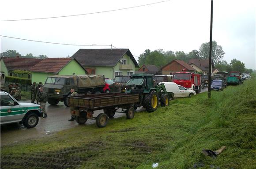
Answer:
POLYGON ((151 91, 144 98, 144 107, 148 112, 154 112, 158 106, 158 95, 156 91, 151 91))

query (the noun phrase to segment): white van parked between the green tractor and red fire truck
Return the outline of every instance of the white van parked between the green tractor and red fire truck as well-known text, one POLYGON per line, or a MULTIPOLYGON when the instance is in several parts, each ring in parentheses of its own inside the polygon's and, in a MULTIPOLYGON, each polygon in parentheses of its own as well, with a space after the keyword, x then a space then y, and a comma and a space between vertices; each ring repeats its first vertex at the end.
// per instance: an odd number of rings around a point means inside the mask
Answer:
MULTIPOLYGON (((181 85, 177 85, 174 82, 162 82, 162 83, 164 83, 167 92, 174 93, 174 98, 192 97, 196 95, 196 91, 188 90, 185 87, 181 85)), ((159 83, 159 84, 162 84, 162 83, 159 83)))

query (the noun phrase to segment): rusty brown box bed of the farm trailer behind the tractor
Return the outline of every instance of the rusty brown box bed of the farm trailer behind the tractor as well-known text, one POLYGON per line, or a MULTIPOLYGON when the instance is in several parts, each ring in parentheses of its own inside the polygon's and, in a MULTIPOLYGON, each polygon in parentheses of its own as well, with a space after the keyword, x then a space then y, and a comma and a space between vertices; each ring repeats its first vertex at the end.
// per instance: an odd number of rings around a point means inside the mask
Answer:
POLYGON ((69 97, 72 107, 96 110, 110 106, 129 105, 139 102, 139 95, 125 93, 87 94, 69 97))

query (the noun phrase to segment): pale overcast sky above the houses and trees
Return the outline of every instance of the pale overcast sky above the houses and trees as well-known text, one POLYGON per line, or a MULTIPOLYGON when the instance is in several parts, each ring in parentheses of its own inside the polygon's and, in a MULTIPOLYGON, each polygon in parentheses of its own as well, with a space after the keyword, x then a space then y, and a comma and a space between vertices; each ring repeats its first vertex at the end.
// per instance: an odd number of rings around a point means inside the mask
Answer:
MULTIPOLYGON (((139 56, 146 49, 188 53, 193 49, 199 50, 202 43, 210 40, 211 0, 161 1, 5 0, 0 3, 0 35, 64 44, 112 44, 116 48, 130 49, 134 56, 139 56), (129 8, 135 6, 141 7, 129 8), (129 9, 117 10, 121 8, 129 9), (94 14, 4 21, 89 13, 94 14)), ((214 0, 213 9, 213 40, 226 53, 223 60, 230 62, 235 58, 244 62, 246 68, 255 69, 255 0, 214 0)), ((56 45, 2 36, 1 53, 12 49, 22 55, 67 57, 78 49, 110 48, 56 45)))

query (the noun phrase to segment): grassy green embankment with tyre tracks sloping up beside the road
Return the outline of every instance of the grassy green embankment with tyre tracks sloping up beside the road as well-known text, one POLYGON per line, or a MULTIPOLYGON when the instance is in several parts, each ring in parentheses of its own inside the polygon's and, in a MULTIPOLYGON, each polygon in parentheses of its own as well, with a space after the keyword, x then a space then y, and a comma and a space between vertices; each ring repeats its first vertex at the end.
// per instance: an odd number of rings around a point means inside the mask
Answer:
POLYGON ((106 128, 79 125, 46 139, 3 146, 1 167, 148 169, 158 162, 160 169, 256 168, 256 78, 211 96, 175 99, 132 120, 110 119, 106 128), (226 150, 216 159, 201 152, 221 146, 226 150))

